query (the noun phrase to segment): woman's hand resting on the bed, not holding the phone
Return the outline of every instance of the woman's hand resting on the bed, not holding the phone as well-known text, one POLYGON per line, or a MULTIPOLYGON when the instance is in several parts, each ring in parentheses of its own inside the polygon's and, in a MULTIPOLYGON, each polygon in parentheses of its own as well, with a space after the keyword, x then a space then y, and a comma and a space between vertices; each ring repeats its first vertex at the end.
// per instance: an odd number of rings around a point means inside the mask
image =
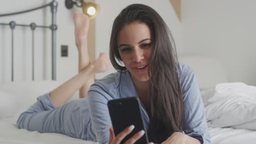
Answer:
POLYGON ((181 132, 173 133, 166 141, 161 144, 185 144, 188 140, 188 135, 181 132))

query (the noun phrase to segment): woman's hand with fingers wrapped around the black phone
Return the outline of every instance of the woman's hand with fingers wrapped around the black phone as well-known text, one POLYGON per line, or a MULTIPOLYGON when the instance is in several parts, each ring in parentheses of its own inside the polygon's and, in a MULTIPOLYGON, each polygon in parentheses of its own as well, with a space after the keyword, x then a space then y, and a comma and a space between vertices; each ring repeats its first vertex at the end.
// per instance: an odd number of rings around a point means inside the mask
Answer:
MULTIPOLYGON (((126 128, 120 134, 115 136, 114 130, 112 127, 109 128, 109 144, 119 144, 127 135, 129 135, 132 130, 134 129, 134 125, 126 128)), ((135 143, 137 140, 141 139, 141 137, 145 134, 144 130, 138 131, 135 135, 133 135, 129 140, 125 141, 125 144, 132 144, 135 143)))

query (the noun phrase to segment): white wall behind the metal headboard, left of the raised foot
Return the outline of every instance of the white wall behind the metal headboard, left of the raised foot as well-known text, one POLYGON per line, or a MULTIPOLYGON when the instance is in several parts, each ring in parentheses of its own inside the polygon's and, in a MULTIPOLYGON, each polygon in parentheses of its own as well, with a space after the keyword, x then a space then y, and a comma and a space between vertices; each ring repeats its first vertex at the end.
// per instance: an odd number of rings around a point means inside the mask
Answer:
MULTIPOLYGON (((4 0, 1 1, 0 14, 26 10, 51 2, 51 0, 4 0)), ((68 10, 65 1, 57 0, 57 81, 66 81, 77 74, 78 53, 74 44, 73 11, 68 10), (68 57, 60 57, 61 45, 68 45, 68 57)), ((50 7, 26 14, 0 17, 0 22, 9 23, 14 20, 19 24, 51 25, 50 7)), ((9 26, 0 26, 0 85, 11 80, 11 39, 9 26)), ((30 28, 16 27, 14 31, 14 81, 31 80, 31 31, 30 28)), ((35 31, 35 80, 51 79, 51 31, 36 28, 35 31)))

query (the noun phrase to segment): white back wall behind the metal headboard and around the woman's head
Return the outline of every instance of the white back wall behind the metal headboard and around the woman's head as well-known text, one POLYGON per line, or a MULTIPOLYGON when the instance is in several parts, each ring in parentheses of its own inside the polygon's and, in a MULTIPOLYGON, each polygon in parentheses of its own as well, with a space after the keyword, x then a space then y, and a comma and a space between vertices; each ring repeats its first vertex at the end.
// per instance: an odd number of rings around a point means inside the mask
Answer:
MULTIPOLYGON (((51 2, 34 1, 34 0, 3 0, 1 1, 0 13, 10 13, 51 2), (15 3, 11 4, 10 3, 15 3)), ((74 25, 73 12, 82 11, 77 7, 68 10, 65 7, 65 1, 57 0, 57 43, 56 43, 56 60, 57 60, 57 81, 64 82, 77 74, 78 72, 78 52, 74 42, 74 25), (61 57, 61 45, 68 45, 68 57, 61 57)), ((143 3, 153 7, 166 21, 170 27, 174 39, 176 40, 178 51, 182 50, 181 24, 174 13, 169 0, 153 1, 118 1, 118 0, 97 0, 100 4, 101 11, 96 17, 96 57, 100 52, 109 50, 110 31, 114 18, 119 14, 121 9, 131 3, 143 3)), ((9 23, 15 20, 17 23, 29 24, 36 22, 38 25, 49 26, 51 22, 50 8, 41 9, 32 13, 21 14, 17 16, 0 17, 0 22, 9 23)), ((15 81, 31 80, 31 31, 30 28, 15 28, 15 81)), ((36 31, 36 69, 35 79, 37 81, 51 79, 51 31, 50 29, 39 29, 36 31)), ((10 66, 10 29, 8 26, 0 26, 0 85, 11 80, 10 66)), ((115 70, 110 65, 107 73, 97 74, 96 79, 100 79, 115 70)))

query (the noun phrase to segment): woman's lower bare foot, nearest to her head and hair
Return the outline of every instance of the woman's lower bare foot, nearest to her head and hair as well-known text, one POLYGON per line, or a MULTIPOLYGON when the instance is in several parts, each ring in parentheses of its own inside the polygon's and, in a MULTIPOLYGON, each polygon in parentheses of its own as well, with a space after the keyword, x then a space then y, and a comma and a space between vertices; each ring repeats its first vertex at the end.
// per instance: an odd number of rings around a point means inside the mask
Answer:
POLYGON ((92 65, 94 65, 94 70, 96 73, 106 72, 109 66, 107 54, 101 52, 100 56, 94 62, 92 62, 92 65))

